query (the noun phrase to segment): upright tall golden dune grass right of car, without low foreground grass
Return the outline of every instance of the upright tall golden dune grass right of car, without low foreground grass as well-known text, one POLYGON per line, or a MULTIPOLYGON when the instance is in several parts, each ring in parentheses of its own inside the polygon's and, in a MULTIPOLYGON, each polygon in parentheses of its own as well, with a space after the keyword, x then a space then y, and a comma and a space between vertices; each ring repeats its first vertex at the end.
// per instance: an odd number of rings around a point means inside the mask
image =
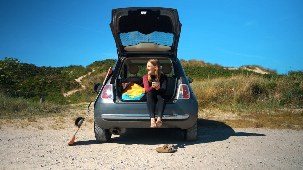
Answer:
POLYGON ((195 93, 200 110, 222 106, 242 108, 277 109, 303 106, 302 77, 268 80, 256 75, 233 75, 210 80, 194 81, 191 88, 195 93))

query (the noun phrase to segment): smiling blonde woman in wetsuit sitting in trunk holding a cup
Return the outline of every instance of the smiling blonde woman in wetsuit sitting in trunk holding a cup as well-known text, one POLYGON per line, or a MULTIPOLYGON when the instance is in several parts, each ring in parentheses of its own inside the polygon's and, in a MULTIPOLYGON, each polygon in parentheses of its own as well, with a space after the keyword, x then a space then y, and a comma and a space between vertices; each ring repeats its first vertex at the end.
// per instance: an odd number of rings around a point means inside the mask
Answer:
POLYGON ((149 116, 151 118, 151 128, 162 125, 162 115, 165 109, 165 92, 167 87, 167 76, 161 74, 160 62, 157 59, 148 60, 146 70, 148 74, 143 76, 144 88, 149 116), (158 118, 155 120, 155 106, 158 106, 158 118))

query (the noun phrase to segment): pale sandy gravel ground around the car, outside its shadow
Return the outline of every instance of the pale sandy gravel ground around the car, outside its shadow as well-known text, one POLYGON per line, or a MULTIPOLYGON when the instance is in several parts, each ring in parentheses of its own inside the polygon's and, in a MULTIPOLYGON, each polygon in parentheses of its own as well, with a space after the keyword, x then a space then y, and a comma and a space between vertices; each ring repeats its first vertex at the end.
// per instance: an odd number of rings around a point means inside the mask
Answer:
POLYGON ((59 130, 52 129, 54 118, 23 128, 20 121, 2 120, 0 169, 303 169, 302 131, 232 129, 200 119, 195 142, 184 141, 180 130, 156 128, 129 129, 108 143, 98 143, 92 115, 71 146, 68 142, 77 130, 72 117, 65 117, 59 123, 65 129, 59 130), (178 151, 155 151, 165 143, 178 151))

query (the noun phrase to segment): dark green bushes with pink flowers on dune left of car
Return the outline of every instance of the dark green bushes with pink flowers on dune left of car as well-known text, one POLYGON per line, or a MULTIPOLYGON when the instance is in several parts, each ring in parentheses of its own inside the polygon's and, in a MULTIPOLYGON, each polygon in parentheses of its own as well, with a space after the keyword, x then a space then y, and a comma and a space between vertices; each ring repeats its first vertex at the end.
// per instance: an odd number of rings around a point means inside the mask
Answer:
MULTIPOLYGON (((0 90, 44 94, 48 95, 45 97, 47 100, 65 103, 63 93, 78 89, 81 85, 75 78, 84 73, 85 68, 82 66, 38 67, 20 63, 17 58, 5 57, 0 60, 0 90)), ((39 98, 30 95, 25 97, 32 100, 39 98)))

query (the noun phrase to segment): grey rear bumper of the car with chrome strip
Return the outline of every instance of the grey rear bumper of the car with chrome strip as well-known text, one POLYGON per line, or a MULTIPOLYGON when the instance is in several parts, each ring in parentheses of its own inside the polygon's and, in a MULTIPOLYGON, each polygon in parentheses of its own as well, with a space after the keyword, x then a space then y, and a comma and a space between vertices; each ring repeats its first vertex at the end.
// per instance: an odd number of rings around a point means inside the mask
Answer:
MULTIPOLYGON (((157 117, 157 106, 155 117, 157 117)), ((195 95, 190 99, 166 103, 162 116, 161 128, 188 129, 197 121, 198 102, 195 95)), ((119 102, 99 98, 95 103, 94 118, 96 124, 103 129, 150 128, 150 117, 146 102, 119 102)))

